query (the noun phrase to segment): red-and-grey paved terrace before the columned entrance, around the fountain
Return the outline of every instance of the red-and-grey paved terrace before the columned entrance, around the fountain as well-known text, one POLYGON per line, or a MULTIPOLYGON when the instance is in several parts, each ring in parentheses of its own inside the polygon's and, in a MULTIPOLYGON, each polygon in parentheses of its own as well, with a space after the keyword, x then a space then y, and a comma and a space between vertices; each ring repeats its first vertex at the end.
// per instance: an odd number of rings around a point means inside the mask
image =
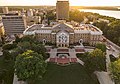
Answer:
POLYGON ((84 62, 76 57, 76 51, 75 49, 69 49, 69 48, 55 48, 51 49, 50 58, 46 60, 46 62, 55 62, 55 63, 70 63, 70 62, 78 62, 81 65, 84 65, 84 62), (57 53, 69 53, 69 56, 67 58, 59 58, 57 56, 57 53))

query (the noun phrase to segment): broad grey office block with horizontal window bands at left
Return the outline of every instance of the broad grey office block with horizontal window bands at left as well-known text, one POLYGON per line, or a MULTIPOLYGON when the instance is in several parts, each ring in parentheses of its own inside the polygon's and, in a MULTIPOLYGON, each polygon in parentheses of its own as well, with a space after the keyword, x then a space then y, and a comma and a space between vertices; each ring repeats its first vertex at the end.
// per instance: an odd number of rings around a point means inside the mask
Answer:
POLYGON ((26 28, 26 17, 18 15, 2 16, 3 26, 7 35, 23 34, 26 28))

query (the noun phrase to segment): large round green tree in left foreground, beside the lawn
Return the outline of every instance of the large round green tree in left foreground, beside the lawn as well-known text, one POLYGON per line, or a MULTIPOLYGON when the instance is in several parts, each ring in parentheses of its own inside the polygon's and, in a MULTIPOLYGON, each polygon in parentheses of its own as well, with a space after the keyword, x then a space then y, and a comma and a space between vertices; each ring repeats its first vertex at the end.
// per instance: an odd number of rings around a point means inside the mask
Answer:
POLYGON ((43 73, 45 73, 46 63, 41 54, 27 50, 16 57, 15 69, 19 80, 34 84, 34 81, 42 78, 43 73))

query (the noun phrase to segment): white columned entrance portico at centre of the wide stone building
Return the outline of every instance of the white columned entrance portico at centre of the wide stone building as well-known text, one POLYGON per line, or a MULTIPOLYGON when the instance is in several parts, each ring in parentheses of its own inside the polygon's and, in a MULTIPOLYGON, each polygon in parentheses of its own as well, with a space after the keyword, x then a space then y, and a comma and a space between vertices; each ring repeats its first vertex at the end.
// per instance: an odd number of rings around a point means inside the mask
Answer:
POLYGON ((56 35, 56 44, 58 47, 69 47, 69 34, 65 31, 60 31, 56 35))

